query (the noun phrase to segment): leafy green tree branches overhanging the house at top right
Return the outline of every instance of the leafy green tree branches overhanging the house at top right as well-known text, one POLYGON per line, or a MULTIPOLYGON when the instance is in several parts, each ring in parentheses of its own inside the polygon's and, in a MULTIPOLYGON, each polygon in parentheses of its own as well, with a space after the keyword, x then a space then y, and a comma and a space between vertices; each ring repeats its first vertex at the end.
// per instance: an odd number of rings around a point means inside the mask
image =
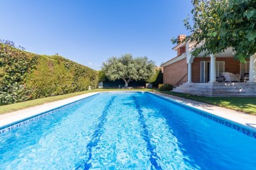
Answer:
MULTIPOLYGON (((256 53, 255 0, 192 0, 193 26, 184 20, 191 35, 186 42, 194 42, 196 50, 206 55, 218 54, 233 47, 235 58, 244 62, 256 53), (202 45, 200 46, 200 43, 202 45)), ((177 42, 177 39, 172 39, 177 42)))

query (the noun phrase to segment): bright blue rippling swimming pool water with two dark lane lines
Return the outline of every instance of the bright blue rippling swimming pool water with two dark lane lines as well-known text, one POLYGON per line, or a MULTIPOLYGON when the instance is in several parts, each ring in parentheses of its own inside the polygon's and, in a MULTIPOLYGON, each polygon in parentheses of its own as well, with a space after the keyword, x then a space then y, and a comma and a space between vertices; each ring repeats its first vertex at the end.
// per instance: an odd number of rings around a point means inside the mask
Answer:
POLYGON ((0 136, 0 169, 255 169, 256 140, 149 93, 103 93, 0 136))

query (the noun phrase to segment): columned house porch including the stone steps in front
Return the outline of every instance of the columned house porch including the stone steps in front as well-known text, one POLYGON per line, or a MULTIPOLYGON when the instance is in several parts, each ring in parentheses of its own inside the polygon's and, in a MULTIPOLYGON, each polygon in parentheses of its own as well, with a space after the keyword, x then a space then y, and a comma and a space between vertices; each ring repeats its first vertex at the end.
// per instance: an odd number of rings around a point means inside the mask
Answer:
POLYGON ((194 57, 189 44, 186 51, 187 82, 174 91, 199 96, 256 96, 256 55, 240 63, 233 59, 231 48, 209 57, 194 57))

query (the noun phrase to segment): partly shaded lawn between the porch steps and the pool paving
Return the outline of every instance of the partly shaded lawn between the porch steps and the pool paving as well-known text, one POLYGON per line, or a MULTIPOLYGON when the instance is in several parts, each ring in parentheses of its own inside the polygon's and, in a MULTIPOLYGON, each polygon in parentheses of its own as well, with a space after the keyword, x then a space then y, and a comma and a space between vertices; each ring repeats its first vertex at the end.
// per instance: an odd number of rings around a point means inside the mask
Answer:
POLYGON ((188 98, 193 101, 213 104, 223 108, 230 108, 235 111, 256 115, 256 97, 206 97, 194 96, 190 94, 180 94, 172 91, 159 91, 164 94, 171 94, 182 98, 188 98))

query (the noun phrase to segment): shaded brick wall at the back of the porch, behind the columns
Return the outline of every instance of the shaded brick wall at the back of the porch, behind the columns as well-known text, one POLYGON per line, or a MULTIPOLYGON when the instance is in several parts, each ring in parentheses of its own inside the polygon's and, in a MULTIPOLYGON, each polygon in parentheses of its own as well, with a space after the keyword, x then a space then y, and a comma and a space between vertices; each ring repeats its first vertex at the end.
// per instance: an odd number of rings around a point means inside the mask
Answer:
MULTIPOLYGON (((192 81, 200 82, 200 63, 201 61, 210 61, 210 57, 196 57, 192 63, 192 81)), ((216 62, 225 62, 225 72, 240 74, 240 62, 233 57, 216 57, 216 62)))

